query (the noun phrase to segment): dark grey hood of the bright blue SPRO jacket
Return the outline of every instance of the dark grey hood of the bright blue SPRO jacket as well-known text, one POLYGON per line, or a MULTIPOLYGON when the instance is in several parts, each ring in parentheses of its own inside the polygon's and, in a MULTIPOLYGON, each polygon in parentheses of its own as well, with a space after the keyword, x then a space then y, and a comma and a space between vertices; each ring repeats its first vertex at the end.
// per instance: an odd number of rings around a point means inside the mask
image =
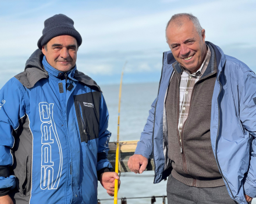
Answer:
MULTIPOLYGON (((48 78, 48 72, 45 71, 44 66, 42 65, 42 58, 44 54, 40 49, 35 50, 33 54, 31 54, 30 58, 26 62, 25 70, 16 75, 15 78, 22 83, 27 89, 33 88, 35 83, 43 78, 48 78)), ((85 75, 83 72, 77 71, 74 73, 74 79, 77 81, 84 83, 84 85, 89 88, 101 92, 101 88, 97 85, 97 83, 85 75)))

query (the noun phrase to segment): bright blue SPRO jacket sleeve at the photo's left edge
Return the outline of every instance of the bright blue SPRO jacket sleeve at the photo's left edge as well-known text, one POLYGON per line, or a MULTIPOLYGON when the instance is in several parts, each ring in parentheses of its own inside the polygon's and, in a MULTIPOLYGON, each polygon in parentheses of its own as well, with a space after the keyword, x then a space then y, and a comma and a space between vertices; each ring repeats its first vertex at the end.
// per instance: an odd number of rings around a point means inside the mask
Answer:
POLYGON ((15 176, 10 175, 13 165, 12 148, 15 143, 13 130, 19 127, 19 119, 25 114, 24 88, 12 78, 0 90, 0 192, 15 187, 15 176))

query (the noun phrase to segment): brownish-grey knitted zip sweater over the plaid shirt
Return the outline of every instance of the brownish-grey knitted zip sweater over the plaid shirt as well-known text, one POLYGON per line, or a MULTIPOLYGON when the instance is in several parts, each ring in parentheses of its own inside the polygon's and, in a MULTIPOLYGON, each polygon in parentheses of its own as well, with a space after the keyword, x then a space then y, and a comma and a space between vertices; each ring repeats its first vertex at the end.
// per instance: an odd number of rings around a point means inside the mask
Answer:
POLYGON ((168 157, 172 161, 172 176, 183 184, 207 188, 225 185, 219 173, 211 146, 211 104, 216 80, 214 49, 207 70, 195 83, 190 101, 189 116, 183 125, 183 152, 180 152, 179 86, 182 70, 173 64, 175 73, 170 81, 165 107, 168 124, 168 157))

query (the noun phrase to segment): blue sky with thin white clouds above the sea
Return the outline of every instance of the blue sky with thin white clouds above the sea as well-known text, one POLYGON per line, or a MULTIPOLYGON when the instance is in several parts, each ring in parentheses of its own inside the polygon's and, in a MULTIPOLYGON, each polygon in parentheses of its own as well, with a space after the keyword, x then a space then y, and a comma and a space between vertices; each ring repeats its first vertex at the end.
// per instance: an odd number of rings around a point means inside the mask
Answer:
POLYGON ((74 20, 83 43, 77 67, 99 85, 158 82, 162 53, 169 50, 165 26, 175 13, 192 13, 206 40, 256 71, 256 1, 3 1, 0 0, 0 88, 23 71, 44 28, 44 20, 63 13, 74 20))

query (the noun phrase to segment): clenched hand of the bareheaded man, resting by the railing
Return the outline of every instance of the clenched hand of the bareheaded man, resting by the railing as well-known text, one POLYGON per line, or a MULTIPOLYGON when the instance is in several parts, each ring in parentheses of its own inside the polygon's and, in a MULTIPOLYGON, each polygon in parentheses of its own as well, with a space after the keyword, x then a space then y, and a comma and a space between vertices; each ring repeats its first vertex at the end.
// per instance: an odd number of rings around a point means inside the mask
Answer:
POLYGON ((128 160, 128 167, 131 172, 134 173, 143 173, 148 165, 148 159, 145 158, 143 155, 134 154, 128 160))

